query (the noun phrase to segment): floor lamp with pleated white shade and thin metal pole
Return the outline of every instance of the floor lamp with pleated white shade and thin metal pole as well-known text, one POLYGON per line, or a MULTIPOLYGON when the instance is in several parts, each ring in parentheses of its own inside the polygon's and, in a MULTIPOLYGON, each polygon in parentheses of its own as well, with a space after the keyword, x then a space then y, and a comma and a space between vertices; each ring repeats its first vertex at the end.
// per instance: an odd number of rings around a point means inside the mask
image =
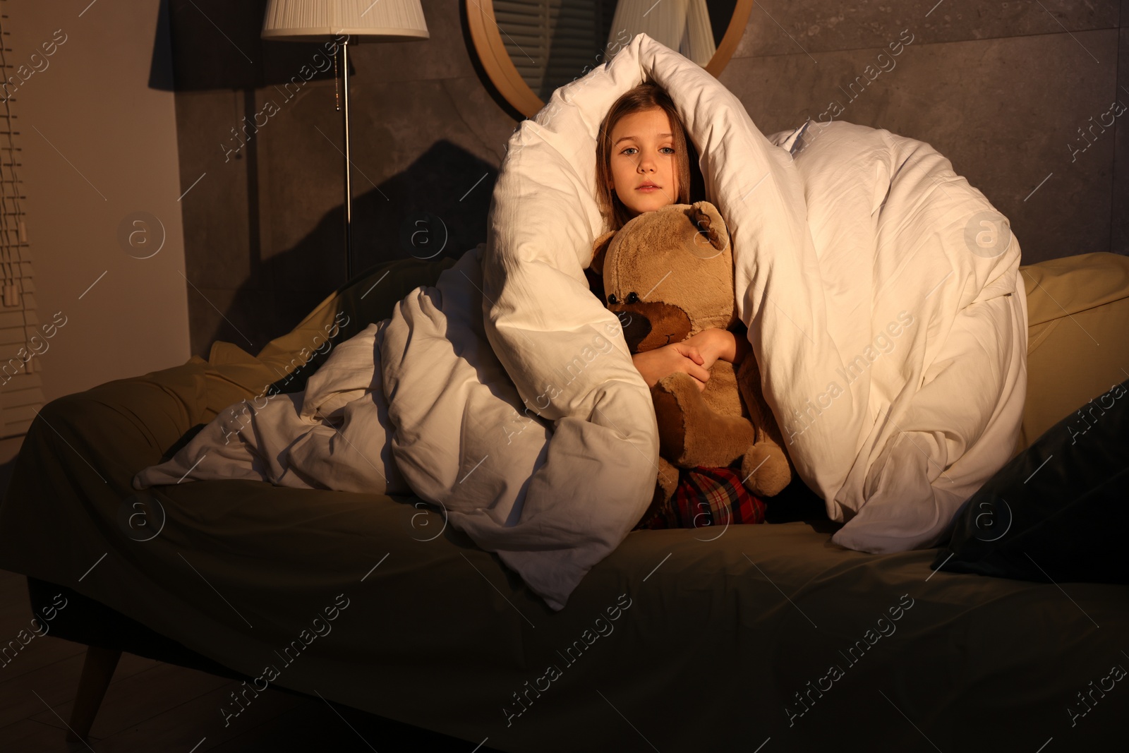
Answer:
POLYGON ((338 40, 345 142, 345 278, 352 278, 352 186, 349 160, 349 45, 359 42, 409 42, 430 37, 420 0, 270 0, 263 18, 264 40, 327 42, 338 40), (341 40, 347 36, 345 40, 341 40))

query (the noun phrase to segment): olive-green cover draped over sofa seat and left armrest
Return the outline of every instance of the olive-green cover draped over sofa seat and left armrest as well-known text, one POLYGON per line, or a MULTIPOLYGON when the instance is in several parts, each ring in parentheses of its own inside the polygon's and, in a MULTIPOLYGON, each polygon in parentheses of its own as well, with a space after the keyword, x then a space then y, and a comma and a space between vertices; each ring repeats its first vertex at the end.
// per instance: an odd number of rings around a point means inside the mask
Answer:
MULTIPOLYGON (((185 482, 159 490, 152 539, 123 523, 133 474, 190 428, 262 392, 339 312, 340 340, 448 265, 373 271, 261 360, 220 344, 210 361, 45 406, 0 507, 0 567, 260 689, 316 692, 467 751, 1074 751, 1123 737, 1129 683, 1112 676, 1129 667, 1129 587, 934 573, 936 550, 843 550, 826 520, 633 532, 557 613, 411 497, 185 482)), ((217 729, 238 710, 218 707, 217 729)))

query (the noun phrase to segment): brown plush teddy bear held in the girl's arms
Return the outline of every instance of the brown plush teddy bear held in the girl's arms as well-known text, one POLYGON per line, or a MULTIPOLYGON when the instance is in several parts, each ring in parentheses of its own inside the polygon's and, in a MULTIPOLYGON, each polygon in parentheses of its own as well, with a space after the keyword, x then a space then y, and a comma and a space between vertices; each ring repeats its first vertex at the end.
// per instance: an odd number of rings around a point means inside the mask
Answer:
MULTIPOLYGON (((619 316, 632 354, 708 327, 745 336, 729 233, 708 201, 668 204, 605 233, 593 244, 588 269, 602 275, 603 303, 619 316)), ((704 389, 675 371, 650 392, 659 437, 656 501, 674 494, 679 467, 726 467, 741 458, 743 484, 759 497, 776 496, 791 480, 791 461, 752 353, 736 370, 715 362, 704 389)))

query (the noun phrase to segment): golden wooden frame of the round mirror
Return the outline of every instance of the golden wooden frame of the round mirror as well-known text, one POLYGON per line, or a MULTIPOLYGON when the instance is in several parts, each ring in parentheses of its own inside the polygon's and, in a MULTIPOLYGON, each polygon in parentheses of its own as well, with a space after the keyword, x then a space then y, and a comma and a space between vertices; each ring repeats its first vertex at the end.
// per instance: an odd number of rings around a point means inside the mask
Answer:
MULTIPOLYGON (((737 0, 733 9, 729 26, 725 29, 717 52, 704 65, 706 70, 717 78, 737 50, 737 43, 745 33, 749 14, 752 12, 753 0, 737 0)), ((514 61, 509 59, 506 45, 501 41, 501 29, 495 20, 493 0, 466 0, 466 20, 470 26, 471 40, 479 61, 498 93, 510 105, 526 117, 536 115, 545 103, 534 94, 530 85, 518 73, 514 61)))

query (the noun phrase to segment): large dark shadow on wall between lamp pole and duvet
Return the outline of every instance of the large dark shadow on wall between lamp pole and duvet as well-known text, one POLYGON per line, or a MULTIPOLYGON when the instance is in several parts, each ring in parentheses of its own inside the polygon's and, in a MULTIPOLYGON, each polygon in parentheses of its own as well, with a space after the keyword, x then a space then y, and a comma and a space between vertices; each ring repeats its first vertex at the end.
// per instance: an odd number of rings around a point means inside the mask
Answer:
MULTIPOLYGON (((352 201, 353 277, 401 259, 457 259, 487 239, 487 214, 498 169, 465 149, 438 141, 408 169, 380 182, 352 201), (471 186, 467 190, 467 186, 471 186)), ((358 186, 353 174, 353 186, 358 186)), ((343 181, 343 178, 342 178, 343 181)), ((238 316, 251 327, 237 331, 221 319, 194 352, 207 353, 216 340, 257 353, 292 330, 318 303, 345 284, 344 204, 326 212, 295 246, 257 264, 235 291, 225 317, 238 316), (286 290, 287 281, 300 290, 286 290), (264 290, 275 306, 262 306, 264 290), (280 298, 283 298, 280 300, 280 298), (257 319, 257 321, 256 321, 257 319), (247 343, 247 339, 251 343, 247 343)), ((199 336, 199 335, 198 335, 199 336)), ((196 340, 196 338, 193 338, 196 340)))

